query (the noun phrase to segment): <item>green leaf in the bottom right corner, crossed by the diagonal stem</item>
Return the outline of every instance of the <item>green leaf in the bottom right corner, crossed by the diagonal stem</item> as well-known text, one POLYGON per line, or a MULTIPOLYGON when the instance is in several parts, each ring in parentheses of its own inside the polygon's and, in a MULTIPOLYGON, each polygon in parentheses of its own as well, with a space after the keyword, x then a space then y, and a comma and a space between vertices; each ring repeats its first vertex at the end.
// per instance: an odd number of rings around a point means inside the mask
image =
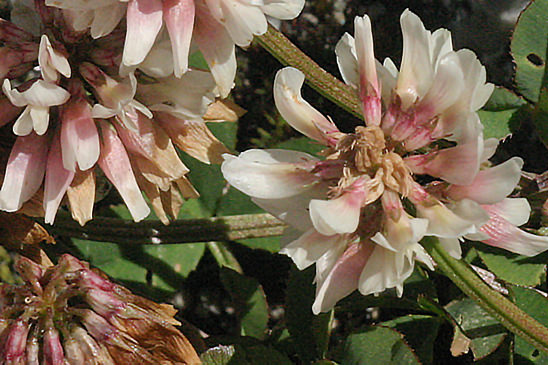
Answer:
MULTIPOLYGON (((524 310, 544 326, 548 326, 548 311, 546 310, 548 308, 548 299, 546 297, 532 289, 520 288, 518 286, 512 286, 509 289, 514 296, 514 302, 520 309, 524 310)), ((515 338, 514 357, 516 363, 518 363, 517 360, 520 360, 519 363, 527 362, 529 364, 531 362, 536 364, 548 363, 547 354, 539 352, 519 336, 515 338)))

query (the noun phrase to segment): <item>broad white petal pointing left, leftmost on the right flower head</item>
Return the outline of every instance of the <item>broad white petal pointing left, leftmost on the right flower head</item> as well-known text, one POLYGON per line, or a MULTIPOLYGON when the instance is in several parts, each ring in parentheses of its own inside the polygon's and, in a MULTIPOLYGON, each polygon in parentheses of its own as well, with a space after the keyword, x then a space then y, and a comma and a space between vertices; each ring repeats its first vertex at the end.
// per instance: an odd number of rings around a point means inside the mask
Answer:
POLYGON ((309 189, 319 178, 310 171, 317 159, 297 151, 249 150, 223 155, 221 171, 236 189, 254 198, 287 198, 309 189))

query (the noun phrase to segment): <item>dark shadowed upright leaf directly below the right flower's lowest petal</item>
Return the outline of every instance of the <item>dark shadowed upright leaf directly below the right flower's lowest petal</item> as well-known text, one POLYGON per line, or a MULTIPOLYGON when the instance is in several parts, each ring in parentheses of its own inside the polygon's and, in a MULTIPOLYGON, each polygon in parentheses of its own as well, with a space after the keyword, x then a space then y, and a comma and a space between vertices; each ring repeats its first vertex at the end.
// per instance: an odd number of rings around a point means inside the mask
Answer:
POLYGON ((303 363, 322 358, 330 335, 331 313, 315 316, 314 267, 300 271, 295 266, 289 272, 286 289, 286 324, 295 349, 303 363))

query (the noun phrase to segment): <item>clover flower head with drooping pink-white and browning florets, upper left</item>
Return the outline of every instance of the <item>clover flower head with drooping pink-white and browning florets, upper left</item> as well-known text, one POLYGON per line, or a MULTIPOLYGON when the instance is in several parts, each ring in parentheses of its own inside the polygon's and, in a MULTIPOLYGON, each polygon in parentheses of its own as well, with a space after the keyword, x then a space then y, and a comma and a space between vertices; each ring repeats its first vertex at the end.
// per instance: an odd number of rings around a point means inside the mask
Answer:
POLYGON ((178 78, 151 67, 120 74, 124 39, 132 32, 121 17, 126 7, 143 10, 146 3, 41 0, 14 7, 39 26, 15 13, 15 23, 0 21, 0 59, 6 61, 0 127, 16 136, 1 210, 18 211, 38 197, 38 214, 53 223, 68 200, 84 224, 93 215, 99 169, 135 221, 150 213, 142 192, 166 224, 184 198, 197 196, 175 145, 206 163, 227 151, 203 118, 218 88, 204 70, 185 68, 178 78))

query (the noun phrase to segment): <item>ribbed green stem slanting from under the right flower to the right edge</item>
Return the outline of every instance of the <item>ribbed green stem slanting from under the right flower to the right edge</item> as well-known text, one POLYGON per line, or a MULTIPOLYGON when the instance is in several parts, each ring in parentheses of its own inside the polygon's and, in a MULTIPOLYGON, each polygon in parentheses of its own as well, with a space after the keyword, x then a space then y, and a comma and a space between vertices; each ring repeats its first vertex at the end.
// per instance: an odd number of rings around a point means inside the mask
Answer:
POLYGON ((491 289, 466 262, 452 258, 436 238, 425 238, 422 243, 438 265, 438 269, 464 294, 475 300, 504 327, 521 336, 537 349, 548 353, 548 328, 491 289))

